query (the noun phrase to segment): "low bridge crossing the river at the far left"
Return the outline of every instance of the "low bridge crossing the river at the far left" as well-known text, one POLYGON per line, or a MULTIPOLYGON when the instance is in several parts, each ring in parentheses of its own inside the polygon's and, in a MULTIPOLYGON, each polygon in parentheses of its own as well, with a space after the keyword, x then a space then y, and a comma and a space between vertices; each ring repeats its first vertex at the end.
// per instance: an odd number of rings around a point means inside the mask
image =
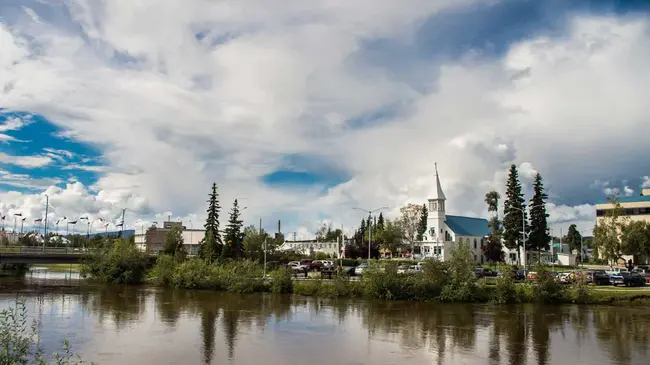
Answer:
MULTIPOLYGON (((0 264, 76 264, 89 249, 70 247, 0 247, 0 264)), ((156 261, 155 255, 149 255, 150 263, 156 261)))

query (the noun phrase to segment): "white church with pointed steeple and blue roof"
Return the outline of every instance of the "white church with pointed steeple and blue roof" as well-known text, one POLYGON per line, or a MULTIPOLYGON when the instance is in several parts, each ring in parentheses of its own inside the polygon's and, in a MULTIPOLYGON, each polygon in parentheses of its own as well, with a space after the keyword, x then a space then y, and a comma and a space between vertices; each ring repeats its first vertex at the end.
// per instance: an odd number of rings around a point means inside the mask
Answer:
POLYGON ((489 234, 487 219, 447 215, 445 211, 447 198, 440 185, 437 166, 435 171, 436 188, 433 196, 428 199, 427 231, 423 240, 417 243, 422 257, 447 261, 451 250, 462 240, 469 242, 474 260, 484 263, 486 260, 483 256, 483 245, 489 234))

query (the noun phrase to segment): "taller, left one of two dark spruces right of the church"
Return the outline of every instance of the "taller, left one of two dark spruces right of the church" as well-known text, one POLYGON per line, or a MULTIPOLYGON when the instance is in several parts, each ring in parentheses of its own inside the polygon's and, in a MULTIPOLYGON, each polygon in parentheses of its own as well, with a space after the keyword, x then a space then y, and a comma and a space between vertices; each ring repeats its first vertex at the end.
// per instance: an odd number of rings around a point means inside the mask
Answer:
POLYGON ((503 203, 503 238, 509 249, 517 249, 517 257, 521 263, 521 247, 523 245, 524 221, 526 211, 524 194, 521 192, 517 166, 510 166, 506 184, 506 200, 503 203))

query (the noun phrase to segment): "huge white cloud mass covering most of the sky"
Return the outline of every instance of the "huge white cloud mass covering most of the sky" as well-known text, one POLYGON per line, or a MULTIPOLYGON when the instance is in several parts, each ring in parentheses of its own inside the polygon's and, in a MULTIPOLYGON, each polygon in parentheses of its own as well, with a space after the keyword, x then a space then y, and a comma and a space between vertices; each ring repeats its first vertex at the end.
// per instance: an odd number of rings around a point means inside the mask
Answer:
POLYGON ((408 45, 416 24, 451 2, 70 3, 91 41, 38 14, 38 26, 0 28, 0 90, 8 107, 102 146, 109 169, 86 193, 112 204, 202 217, 217 181, 224 211, 240 197, 265 221, 291 212, 296 227, 321 215, 348 227, 362 217, 353 206, 394 215, 423 202, 437 161, 449 213, 484 216, 483 195, 502 191, 512 163, 522 179, 539 171, 553 192, 650 152, 638 133, 650 113, 647 19, 577 16, 563 37, 517 42, 502 58, 425 63, 414 70, 422 91, 367 64, 360 48, 374 37, 408 45), (27 57, 32 38, 40 53, 27 57), (407 112, 361 130, 343 122, 392 104, 407 112), (317 155, 351 178, 325 196, 261 184, 286 154, 317 155))

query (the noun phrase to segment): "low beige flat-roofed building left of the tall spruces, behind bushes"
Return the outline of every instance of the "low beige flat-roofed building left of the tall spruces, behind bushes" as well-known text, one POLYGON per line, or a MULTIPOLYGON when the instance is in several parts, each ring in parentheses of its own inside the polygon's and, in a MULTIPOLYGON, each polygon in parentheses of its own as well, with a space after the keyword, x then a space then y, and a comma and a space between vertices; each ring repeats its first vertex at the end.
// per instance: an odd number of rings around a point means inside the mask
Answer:
POLYGON ((145 230, 144 228, 135 234, 135 245, 140 251, 149 253, 158 253, 162 251, 165 243, 165 234, 173 227, 181 228, 183 235, 183 247, 188 255, 197 255, 199 253, 199 246, 205 230, 203 229, 187 229, 182 222, 163 222, 163 227, 154 227, 145 230), (146 238, 149 237, 147 240, 146 238))

